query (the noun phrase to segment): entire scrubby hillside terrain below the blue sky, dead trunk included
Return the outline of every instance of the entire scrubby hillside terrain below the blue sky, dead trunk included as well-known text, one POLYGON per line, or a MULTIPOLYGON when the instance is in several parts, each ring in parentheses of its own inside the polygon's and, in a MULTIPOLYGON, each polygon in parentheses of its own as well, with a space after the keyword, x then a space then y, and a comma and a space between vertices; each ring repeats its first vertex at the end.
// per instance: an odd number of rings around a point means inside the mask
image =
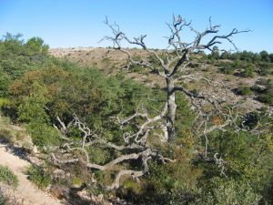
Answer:
POLYGON ((214 50, 0 40, 0 203, 270 204, 273 62, 214 50))

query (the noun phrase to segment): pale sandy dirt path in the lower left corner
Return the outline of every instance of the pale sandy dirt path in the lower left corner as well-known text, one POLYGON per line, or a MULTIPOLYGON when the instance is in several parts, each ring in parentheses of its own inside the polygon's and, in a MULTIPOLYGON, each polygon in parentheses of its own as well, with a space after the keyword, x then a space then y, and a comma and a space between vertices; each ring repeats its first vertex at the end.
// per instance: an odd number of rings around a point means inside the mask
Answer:
POLYGON ((7 190, 11 196, 15 196, 18 202, 24 205, 59 205, 63 204, 49 193, 38 190, 24 174, 25 167, 30 163, 20 159, 12 149, 7 149, 0 143, 0 164, 7 166, 18 176, 19 184, 16 190, 7 190))

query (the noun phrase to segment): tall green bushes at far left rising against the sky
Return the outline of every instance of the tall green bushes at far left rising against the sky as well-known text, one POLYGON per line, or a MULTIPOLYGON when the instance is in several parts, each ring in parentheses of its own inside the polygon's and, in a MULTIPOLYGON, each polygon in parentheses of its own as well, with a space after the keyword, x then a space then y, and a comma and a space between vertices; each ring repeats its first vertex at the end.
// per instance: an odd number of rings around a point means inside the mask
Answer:
POLYGON ((44 67, 48 61, 48 46, 39 37, 24 42, 21 35, 9 33, 0 40, 0 97, 8 95, 13 80, 25 72, 44 67))

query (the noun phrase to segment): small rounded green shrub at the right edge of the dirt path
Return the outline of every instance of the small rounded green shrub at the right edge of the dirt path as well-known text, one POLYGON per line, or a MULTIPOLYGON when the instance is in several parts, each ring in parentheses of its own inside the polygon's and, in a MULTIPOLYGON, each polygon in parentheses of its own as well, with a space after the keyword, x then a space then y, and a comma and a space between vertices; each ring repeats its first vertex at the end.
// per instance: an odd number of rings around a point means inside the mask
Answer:
POLYGON ((30 179, 35 186, 41 190, 45 190, 52 182, 50 174, 36 169, 33 166, 28 167, 25 173, 28 175, 28 179, 30 179))

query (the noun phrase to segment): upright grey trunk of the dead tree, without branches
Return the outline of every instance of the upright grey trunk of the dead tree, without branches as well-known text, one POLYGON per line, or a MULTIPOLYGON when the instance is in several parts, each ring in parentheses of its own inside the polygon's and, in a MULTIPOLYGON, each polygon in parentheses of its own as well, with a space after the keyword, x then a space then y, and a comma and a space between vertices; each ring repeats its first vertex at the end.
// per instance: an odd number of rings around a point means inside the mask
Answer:
POLYGON ((167 82, 167 138, 171 141, 175 138, 175 120, 177 112, 175 82, 172 77, 166 78, 167 82))

